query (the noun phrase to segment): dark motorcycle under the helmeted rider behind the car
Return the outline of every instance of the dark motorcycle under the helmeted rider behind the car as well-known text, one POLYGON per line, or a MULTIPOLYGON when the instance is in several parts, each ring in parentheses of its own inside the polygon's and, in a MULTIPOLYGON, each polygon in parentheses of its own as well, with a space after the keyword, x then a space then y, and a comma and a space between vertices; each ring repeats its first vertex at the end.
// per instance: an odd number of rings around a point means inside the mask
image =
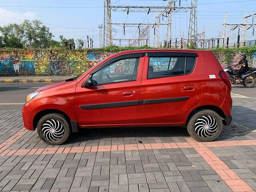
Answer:
POLYGON ((256 68, 249 67, 249 70, 241 76, 242 80, 240 83, 237 82, 239 79, 238 70, 233 69, 231 66, 227 66, 224 71, 227 72, 230 82, 233 85, 240 84, 247 88, 252 88, 256 85, 256 68))

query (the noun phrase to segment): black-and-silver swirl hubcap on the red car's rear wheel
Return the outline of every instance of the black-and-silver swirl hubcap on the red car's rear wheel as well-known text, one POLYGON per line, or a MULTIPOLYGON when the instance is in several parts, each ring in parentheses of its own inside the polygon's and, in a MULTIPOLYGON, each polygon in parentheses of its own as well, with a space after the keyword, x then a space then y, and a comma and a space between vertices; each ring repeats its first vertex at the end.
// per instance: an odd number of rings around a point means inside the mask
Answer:
POLYGON ((210 137, 218 129, 216 120, 211 116, 202 116, 196 120, 195 130, 201 137, 210 137))

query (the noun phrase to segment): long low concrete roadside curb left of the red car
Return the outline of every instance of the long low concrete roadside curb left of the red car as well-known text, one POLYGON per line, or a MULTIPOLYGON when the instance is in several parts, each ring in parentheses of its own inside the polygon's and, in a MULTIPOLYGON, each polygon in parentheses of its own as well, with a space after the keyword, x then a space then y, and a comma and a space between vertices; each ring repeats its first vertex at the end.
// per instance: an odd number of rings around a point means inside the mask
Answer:
POLYGON ((53 82, 60 82, 60 81, 64 81, 67 78, 63 78, 63 79, 39 79, 39 78, 35 78, 35 79, 0 79, 0 83, 53 83, 53 82))

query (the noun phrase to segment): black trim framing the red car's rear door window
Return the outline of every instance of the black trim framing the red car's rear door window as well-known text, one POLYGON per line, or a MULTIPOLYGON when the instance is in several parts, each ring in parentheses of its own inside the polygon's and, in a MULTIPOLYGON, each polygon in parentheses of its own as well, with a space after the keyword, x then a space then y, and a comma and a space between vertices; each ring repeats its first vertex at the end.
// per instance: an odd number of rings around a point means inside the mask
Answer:
MULTIPOLYGON (((176 52, 177 53, 177 52, 176 52)), ((179 52, 178 52, 179 53, 179 52)), ((197 54, 196 54, 197 55, 197 54)), ((146 53, 146 56, 148 56, 147 55, 147 53, 146 53)), ((174 77, 174 76, 183 76, 183 75, 188 75, 188 74, 190 74, 190 73, 192 73, 193 71, 194 71, 194 68, 195 68, 195 66, 196 66, 196 61, 197 61, 197 58, 196 57, 198 57, 198 56, 176 56, 176 55, 173 55, 173 56, 167 56, 167 55, 163 55, 163 56, 148 56, 149 57, 149 59, 148 59, 148 68, 149 68, 149 62, 150 62, 150 58, 155 58, 155 57, 159 57, 159 58, 163 58, 163 57, 166 57, 166 58, 172 58, 172 57, 185 57, 185 66, 184 66, 184 73, 183 74, 176 74, 176 75, 164 75, 164 76, 161 76, 161 77, 152 77, 152 78, 149 78, 148 77, 148 73, 147 73, 147 79, 158 79, 158 78, 165 78, 165 77, 174 77), (194 67, 193 67, 193 69, 189 72, 189 73, 187 73, 186 72, 186 68, 187 68, 187 61, 188 61, 188 57, 189 58, 196 58, 196 60, 195 60, 195 64, 194 64, 194 67)), ((169 66, 168 66, 168 68, 169 68, 169 66)))

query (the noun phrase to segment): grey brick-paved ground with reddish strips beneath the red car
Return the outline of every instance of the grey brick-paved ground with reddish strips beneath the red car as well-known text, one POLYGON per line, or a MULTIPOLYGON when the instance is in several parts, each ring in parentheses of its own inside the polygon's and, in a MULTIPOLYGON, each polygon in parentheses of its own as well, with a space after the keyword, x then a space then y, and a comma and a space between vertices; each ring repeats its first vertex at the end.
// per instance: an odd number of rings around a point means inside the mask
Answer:
POLYGON ((20 110, 0 110, 0 190, 255 191, 255 102, 234 102, 232 114, 215 142, 196 142, 182 128, 113 128, 53 147, 23 128, 20 110))

